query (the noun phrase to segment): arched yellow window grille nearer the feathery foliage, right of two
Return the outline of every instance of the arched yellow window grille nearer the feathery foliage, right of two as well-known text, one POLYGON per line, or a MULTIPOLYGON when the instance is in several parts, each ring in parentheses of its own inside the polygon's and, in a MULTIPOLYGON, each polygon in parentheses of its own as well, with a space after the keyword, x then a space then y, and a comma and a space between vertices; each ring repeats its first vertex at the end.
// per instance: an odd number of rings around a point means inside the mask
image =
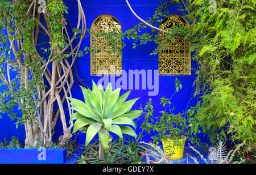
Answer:
MULTIPOLYGON (((172 30, 175 26, 189 27, 189 23, 180 15, 169 15, 162 20, 159 28, 172 30)), ((159 75, 191 75, 190 42, 182 36, 164 42, 165 35, 159 31, 159 46, 164 47, 158 54, 159 75)))

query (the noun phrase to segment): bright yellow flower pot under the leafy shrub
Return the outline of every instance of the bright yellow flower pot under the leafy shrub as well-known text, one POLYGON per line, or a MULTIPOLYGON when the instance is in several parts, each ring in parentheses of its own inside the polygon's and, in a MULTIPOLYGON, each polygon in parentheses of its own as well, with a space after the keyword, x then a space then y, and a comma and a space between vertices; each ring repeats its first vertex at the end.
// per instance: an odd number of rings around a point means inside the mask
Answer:
POLYGON ((182 159, 183 157, 186 138, 180 139, 179 141, 182 143, 181 146, 174 146, 173 140, 162 140, 164 154, 171 155, 169 156, 171 160, 182 159))

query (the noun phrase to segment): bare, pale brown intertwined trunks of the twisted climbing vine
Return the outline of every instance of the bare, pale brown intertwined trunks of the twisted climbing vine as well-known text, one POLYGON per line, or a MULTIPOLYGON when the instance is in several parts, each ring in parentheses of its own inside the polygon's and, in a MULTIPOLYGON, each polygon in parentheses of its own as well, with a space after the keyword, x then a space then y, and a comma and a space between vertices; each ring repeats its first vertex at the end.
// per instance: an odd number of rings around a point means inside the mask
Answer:
MULTIPOLYGON (((53 1, 54 0, 51 0, 49 1, 49 3, 52 3, 53 1)), ((12 61, 9 61, 8 59, 6 61, 7 73, 4 76, 0 76, 0 79, 9 88, 9 91, 12 94, 12 96, 19 97, 19 94, 18 94, 19 92, 30 91, 30 92, 27 92, 27 94, 30 94, 30 97, 27 97, 27 96, 22 97, 20 101, 18 101, 20 110, 22 110, 22 113, 23 113, 23 121, 24 121, 24 126, 26 131, 25 148, 28 148, 30 146, 35 147, 36 144, 38 143, 37 142, 38 139, 42 142, 42 144, 48 146, 49 142, 52 139, 53 131, 54 131, 57 119, 59 117, 63 125, 63 134, 64 134, 63 140, 70 139, 72 136, 71 129, 73 127, 73 122, 71 122, 71 125, 67 126, 63 105, 64 105, 64 102, 67 101, 68 108, 69 108, 69 116, 72 116, 73 110, 70 109, 71 106, 69 105, 69 101, 66 97, 68 96, 72 97, 71 88, 73 86, 74 80, 73 80, 73 74, 72 74, 71 68, 77 58, 81 41, 82 39, 84 39, 84 36, 85 36, 85 32, 86 32, 85 15, 84 15, 84 11, 82 10, 80 0, 77 0, 79 16, 78 16, 76 29, 79 29, 80 27, 82 28, 79 44, 77 44, 76 46, 72 45, 78 33, 76 32, 73 33, 73 37, 70 38, 68 36, 67 28, 65 27, 65 25, 63 25, 62 31, 59 31, 59 32, 62 33, 61 35, 67 36, 68 41, 65 41, 67 42, 67 46, 62 48, 60 45, 54 45, 54 49, 52 49, 50 56, 48 56, 48 58, 42 58, 40 57, 39 53, 35 49, 36 45, 39 45, 37 43, 38 37, 39 37, 39 26, 43 29, 43 31, 49 37, 49 42, 51 42, 51 47, 53 47, 52 42, 54 39, 53 37, 54 33, 52 33, 53 31, 52 27, 54 26, 51 25, 46 14, 43 14, 44 20, 46 21, 46 27, 40 22, 41 13, 37 12, 37 16, 36 16, 36 11, 38 11, 38 8, 42 5, 38 5, 37 1, 34 0, 31 2, 31 1, 16 0, 16 1, 13 1, 14 5, 15 3, 24 3, 24 5, 27 6, 27 9, 26 9, 27 12, 24 14, 22 13, 19 14, 19 15, 23 15, 23 19, 20 19, 20 16, 19 18, 16 18, 15 10, 14 11, 10 10, 9 16, 7 16, 6 26, 9 26, 15 29, 15 33, 12 33, 11 31, 9 31, 9 28, 7 28, 8 38, 11 44, 10 49, 13 51, 15 59, 13 59, 12 61), (38 25, 32 28, 30 32, 28 32, 26 28, 22 26, 23 25, 26 26, 28 23, 28 20, 31 20, 31 19, 33 20, 33 22, 36 22, 38 25), (14 25, 12 25, 12 20, 15 21, 14 25), (63 33, 63 31, 65 31, 65 34, 63 33), (26 38, 27 41, 29 40, 30 43, 28 42, 24 43, 24 41, 18 39, 18 37, 15 38, 15 36, 18 34, 23 36, 23 40, 24 38, 26 38), (31 35, 32 35, 31 37, 32 39, 28 38, 28 36, 31 36, 31 35), (26 52, 27 48, 24 48, 24 45, 33 46, 34 49, 26 52), (71 53, 68 53, 69 55, 67 56, 67 54, 64 54, 64 52, 68 48, 70 48, 71 53), (69 61, 71 61, 71 63, 69 63, 69 61), (48 68, 50 63, 51 63, 51 71, 48 68), (19 66, 18 69, 21 75, 19 92, 15 92, 11 84, 12 81, 10 76, 10 70, 11 70, 11 66, 14 67, 15 65, 19 66), (31 67, 30 65, 34 65, 37 67, 33 67, 33 66, 31 67), (41 72, 42 74, 40 73, 41 75, 38 75, 38 72, 41 72), (34 75, 34 77, 33 76, 31 77, 31 75, 34 75), (7 76, 7 79, 6 79, 6 76, 7 76), (36 87, 36 89, 34 90, 31 87, 31 84, 28 83, 28 82, 32 82, 31 80, 34 80, 34 79, 40 79, 41 81, 40 83, 42 84, 49 84, 48 91, 46 91, 46 88, 40 86, 39 83, 34 84, 34 86, 36 87), (45 80, 47 82, 44 82, 45 80), (60 93, 61 94, 64 93, 64 95, 61 96, 60 93), (53 112, 53 106, 55 105, 58 106, 58 110, 56 113, 53 112)), ((63 2, 56 1, 55 3, 63 3, 63 2)), ((3 7, 3 9, 4 8, 5 7, 3 7)), ((59 12, 60 19, 64 18, 63 13, 64 12, 59 12)), ((8 58, 9 58, 10 52, 11 51, 7 53, 8 58)))

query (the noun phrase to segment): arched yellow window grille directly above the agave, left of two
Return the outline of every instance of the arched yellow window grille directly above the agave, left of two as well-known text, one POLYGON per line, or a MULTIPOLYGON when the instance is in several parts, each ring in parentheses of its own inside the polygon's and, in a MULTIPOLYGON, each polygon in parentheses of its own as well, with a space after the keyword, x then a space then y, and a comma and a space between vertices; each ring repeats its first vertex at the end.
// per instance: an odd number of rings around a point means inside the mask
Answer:
POLYGON ((96 18, 90 28, 90 75, 121 75, 122 74, 122 41, 117 39, 115 48, 101 32, 121 32, 121 24, 114 16, 101 15, 96 18))

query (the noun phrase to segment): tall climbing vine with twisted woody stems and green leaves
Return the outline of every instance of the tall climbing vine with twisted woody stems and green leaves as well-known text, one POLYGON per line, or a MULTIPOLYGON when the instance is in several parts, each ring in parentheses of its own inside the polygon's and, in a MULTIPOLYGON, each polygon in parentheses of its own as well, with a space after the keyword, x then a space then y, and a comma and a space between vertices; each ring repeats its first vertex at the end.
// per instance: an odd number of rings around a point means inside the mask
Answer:
MULTIPOLYGON (((24 124, 25 147, 35 146, 37 139, 47 146, 59 117, 63 138, 72 136, 73 123, 67 126, 63 105, 67 101, 70 107, 66 97, 72 96, 71 68, 86 28, 79 0, 77 5, 77 28, 69 37, 64 16, 68 8, 63 1, 0 2, 0 79, 6 89, 0 93, 0 112, 15 119, 17 127, 24 124), (42 44, 38 42, 40 33, 48 37, 48 48, 41 48, 47 57, 38 52, 37 46, 42 44), (77 35, 80 35, 80 42, 73 46, 77 35), (53 106, 58 107, 57 111, 53 112, 53 106), (17 108, 22 117, 14 113, 17 108)), ((72 114, 73 110, 69 109, 69 115, 72 114)))

